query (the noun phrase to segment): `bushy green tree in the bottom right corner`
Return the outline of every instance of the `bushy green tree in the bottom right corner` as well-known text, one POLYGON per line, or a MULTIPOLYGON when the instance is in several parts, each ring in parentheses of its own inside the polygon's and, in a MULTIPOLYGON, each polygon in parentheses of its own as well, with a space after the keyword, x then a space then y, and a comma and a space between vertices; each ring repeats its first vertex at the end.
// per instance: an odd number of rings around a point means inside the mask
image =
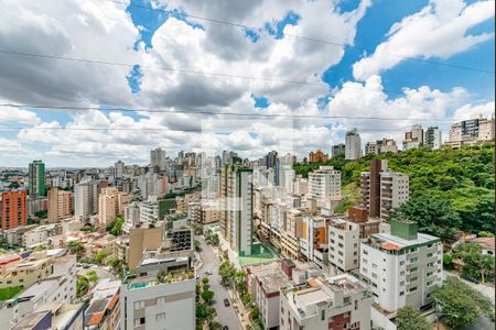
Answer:
POLYGON ((494 319, 493 301, 456 277, 448 277, 433 297, 451 328, 474 324, 478 317, 494 319))

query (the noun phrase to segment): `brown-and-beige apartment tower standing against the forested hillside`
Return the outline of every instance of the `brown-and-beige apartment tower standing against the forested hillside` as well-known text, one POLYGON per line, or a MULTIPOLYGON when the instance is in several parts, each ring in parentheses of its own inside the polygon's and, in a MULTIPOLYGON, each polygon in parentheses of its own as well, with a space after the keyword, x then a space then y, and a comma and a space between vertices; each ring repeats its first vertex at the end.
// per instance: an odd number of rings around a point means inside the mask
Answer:
POLYGON ((362 206, 370 218, 388 219, 389 211, 410 198, 406 174, 388 168, 387 160, 371 160, 370 172, 362 173, 362 206))

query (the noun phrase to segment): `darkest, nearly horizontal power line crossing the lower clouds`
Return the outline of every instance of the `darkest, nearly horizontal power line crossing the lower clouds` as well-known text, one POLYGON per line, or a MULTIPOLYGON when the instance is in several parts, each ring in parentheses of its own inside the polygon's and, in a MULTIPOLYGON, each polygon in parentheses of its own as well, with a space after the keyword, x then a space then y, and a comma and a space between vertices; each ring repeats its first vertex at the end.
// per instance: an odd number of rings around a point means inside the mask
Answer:
POLYGON ((0 103, 0 107, 13 108, 34 108, 53 110, 73 110, 73 111, 121 111, 121 112, 150 112, 150 113, 186 113, 186 114, 208 114, 208 116, 229 116, 240 118, 293 118, 293 119, 351 119, 351 120, 384 120, 384 121, 429 121, 429 122, 452 122, 449 119, 425 119, 425 118, 390 118, 390 117, 354 117, 354 116, 326 116, 326 114, 277 114, 277 113, 240 113, 240 112, 215 112, 207 110, 170 110, 170 109, 129 109, 123 107, 73 107, 73 106, 40 106, 40 105, 10 105, 0 103))

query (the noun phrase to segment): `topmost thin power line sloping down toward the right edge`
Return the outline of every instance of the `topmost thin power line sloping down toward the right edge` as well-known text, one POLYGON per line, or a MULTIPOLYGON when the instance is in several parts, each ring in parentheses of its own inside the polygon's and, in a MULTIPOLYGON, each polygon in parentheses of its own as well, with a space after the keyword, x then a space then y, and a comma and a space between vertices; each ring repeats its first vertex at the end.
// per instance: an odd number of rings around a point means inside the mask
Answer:
MULTIPOLYGON (((112 3, 116 3, 116 4, 126 6, 126 7, 141 8, 141 9, 151 10, 151 11, 162 11, 162 12, 165 12, 165 13, 170 13, 170 11, 168 11, 165 9, 152 8, 152 7, 148 7, 148 6, 143 6, 143 4, 126 3, 126 2, 122 2, 122 1, 118 1, 118 0, 104 0, 104 1, 112 2, 112 3)), ((201 21, 206 21, 206 22, 211 22, 211 23, 226 24, 226 25, 230 25, 230 26, 234 26, 234 28, 241 28, 241 29, 254 30, 254 31, 260 31, 261 30, 260 28, 249 26, 249 25, 241 24, 241 23, 236 23, 236 22, 230 22, 230 21, 225 21, 225 20, 219 20, 219 19, 212 19, 212 18, 205 18, 205 16, 188 14, 188 13, 186 13, 184 11, 181 12, 181 14, 186 16, 186 18, 201 20, 201 21)), ((304 40, 304 41, 309 41, 309 42, 316 42, 316 43, 327 44, 327 45, 332 45, 332 46, 338 46, 338 47, 347 46, 347 47, 351 47, 351 48, 356 48, 357 51, 362 51, 362 52, 365 51, 365 52, 368 52, 368 53, 374 51, 374 50, 370 50, 370 48, 367 48, 367 47, 359 47, 359 46, 356 46, 356 45, 348 45, 348 44, 344 44, 344 43, 339 43, 339 42, 334 42, 334 41, 330 41, 330 40, 322 40, 322 38, 316 38, 316 37, 310 37, 310 36, 305 36, 305 35, 284 33, 284 36, 289 36, 289 37, 292 37, 292 38, 304 40)), ((425 58, 417 58, 417 57, 397 55, 397 54, 387 53, 387 52, 379 52, 378 54, 382 54, 382 55, 391 56, 391 57, 397 57, 397 58, 403 58, 403 59, 408 59, 408 61, 414 61, 414 62, 420 62, 420 63, 432 64, 432 65, 445 66, 445 67, 464 69, 464 70, 472 70, 472 72, 477 72, 477 73, 482 73, 482 74, 490 74, 490 75, 495 74, 495 72, 492 72, 492 70, 481 69, 481 68, 465 66, 465 65, 460 65, 460 64, 453 64, 453 63, 446 63, 446 62, 438 62, 438 61, 425 59, 425 58)))

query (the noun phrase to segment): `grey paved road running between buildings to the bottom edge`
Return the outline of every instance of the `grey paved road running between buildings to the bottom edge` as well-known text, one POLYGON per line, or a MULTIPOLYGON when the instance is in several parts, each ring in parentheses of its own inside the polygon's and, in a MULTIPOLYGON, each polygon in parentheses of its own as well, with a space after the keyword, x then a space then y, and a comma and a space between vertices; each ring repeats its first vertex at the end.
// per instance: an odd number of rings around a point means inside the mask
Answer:
POLYGON ((206 271, 211 271, 212 273, 214 273, 213 275, 209 275, 207 277, 211 279, 211 289, 214 292, 214 307, 217 310, 217 321, 223 326, 229 327, 229 330, 241 329, 239 326, 238 317, 233 308, 233 301, 230 301, 227 290, 220 284, 218 284, 219 262, 214 253, 214 250, 212 250, 211 245, 207 245, 207 243, 205 243, 205 240, 202 237, 196 237, 195 239, 201 243, 202 252, 200 253, 200 255, 202 256, 203 261, 203 266, 197 272, 197 275, 200 276, 200 278, 202 278, 206 276, 206 271), (229 299, 229 302, 231 302, 229 307, 224 306, 224 299, 226 298, 229 299))

